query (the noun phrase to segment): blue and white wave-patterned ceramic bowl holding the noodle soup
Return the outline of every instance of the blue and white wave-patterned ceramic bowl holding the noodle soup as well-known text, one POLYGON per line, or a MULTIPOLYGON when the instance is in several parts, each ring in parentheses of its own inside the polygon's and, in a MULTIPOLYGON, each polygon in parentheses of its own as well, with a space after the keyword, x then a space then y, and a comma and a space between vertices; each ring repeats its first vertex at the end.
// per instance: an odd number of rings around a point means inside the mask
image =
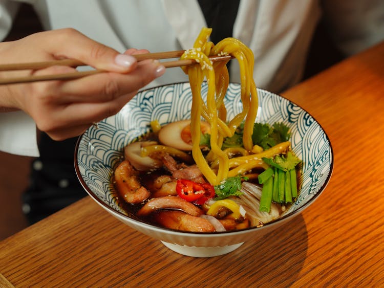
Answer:
MULTIPOLYGON (((206 89, 204 85, 203 92, 206 89)), ((311 115, 279 95, 258 89, 258 96, 257 122, 272 124, 279 121, 287 124, 292 132, 292 149, 303 160, 297 201, 272 223, 241 231, 191 233, 142 223, 119 205, 111 175, 121 160, 123 147, 147 132, 152 120, 166 124, 189 119, 192 101, 189 83, 169 84, 140 92, 118 114, 84 132, 75 150, 78 179, 93 200, 106 211, 134 229, 161 240, 166 247, 178 253, 195 257, 216 256, 238 248, 244 241, 255 241, 313 203, 325 189, 333 168, 329 138, 311 115)), ((225 104, 228 117, 240 112, 239 84, 229 85, 225 104)))

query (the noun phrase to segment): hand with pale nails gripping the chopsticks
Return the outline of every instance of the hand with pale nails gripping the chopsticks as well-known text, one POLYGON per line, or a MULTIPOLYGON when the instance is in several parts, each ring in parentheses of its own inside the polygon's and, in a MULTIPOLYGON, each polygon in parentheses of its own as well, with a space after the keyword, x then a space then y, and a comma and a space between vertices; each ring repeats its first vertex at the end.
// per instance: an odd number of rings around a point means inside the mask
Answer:
MULTIPOLYGON (((165 68, 159 61, 137 62, 131 56, 139 53, 147 51, 130 49, 119 54, 73 29, 41 32, 0 43, 3 63, 71 58, 108 71, 68 81, 3 85, 0 86, 0 106, 3 110, 24 110, 37 127, 54 140, 80 135, 92 122, 116 114, 141 87, 164 73, 165 68)), ((75 69, 55 66, 38 71, 2 73, 0 77, 70 72, 75 69)))

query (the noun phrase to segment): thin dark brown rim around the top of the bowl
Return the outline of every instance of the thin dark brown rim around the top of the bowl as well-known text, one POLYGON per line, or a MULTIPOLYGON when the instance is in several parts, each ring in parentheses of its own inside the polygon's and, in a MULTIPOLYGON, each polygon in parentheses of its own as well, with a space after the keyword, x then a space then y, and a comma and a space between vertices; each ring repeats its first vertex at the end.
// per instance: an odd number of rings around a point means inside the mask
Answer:
MULTIPOLYGON (((184 81, 184 82, 175 82, 175 83, 168 83, 168 84, 163 84, 163 85, 157 85, 157 86, 153 86, 153 87, 150 87, 150 88, 147 88, 147 89, 144 89, 144 90, 141 90, 139 91, 137 94, 139 93, 142 93, 142 92, 145 92, 145 91, 150 91, 150 90, 153 90, 155 88, 159 88, 159 87, 163 87, 163 86, 169 86, 169 85, 176 85, 176 84, 185 84, 185 83, 189 83, 188 81, 184 81)), ((232 84, 240 84, 240 83, 237 83, 237 82, 229 82, 229 84, 232 83, 232 84)), ((122 217, 123 219, 127 220, 127 221, 132 221, 133 223, 137 224, 137 225, 140 225, 140 226, 146 226, 148 228, 151 228, 151 229, 157 229, 157 230, 160 230, 160 231, 164 231, 168 234, 177 234, 177 235, 198 235, 198 236, 212 236, 212 235, 225 235, 225 234, 231 234, 231 235, 234 235, 234 234, 243 234, 243 233, 246 233, 248 231, 253 231, 253 230, 260 230, 260 229, 266 229, 267 227, 270 227, 270 226, 274 226, 276 223, 284 220, 284 219, 289 219, 289 218, 293 218, 295 216, 297 216, 298 214, 300 214, 304 209, 308 208, 322 193, 323 191, 325 190, 325 188, 327 187, 330 179, 331 179, 331 175, 332 175, 332 172, 333 172, 333 167, 334 167, 334 153, 333 153, 333 147, 332 147, 332 143, 327 135, 327 132, 326 130, 323 128, 323 126, 307 111, 305 110, 303 107, 301 107, 300 105, 296 104, 295 102, 289 100, 288 98, 278 94, 278 93, 274 93, 274 92, 270 92, 268 90, 265 90, 263 88, 259 88, 257 87, 257 89, 259 91, 264 91, 264 92, 267 92, 267 93, 272 93, 278 97, 281 97, 283 99, 286 99, 287 101, 289 101, 290 103, 296 105, 297 107, 299 107, 300 109, 302 109, 305 113, 307 113, 316 123, 317 125, 319 125, 319 127, 324 131, 324 135, 329 143, 329 148, 330 148, 330 156, 331 156, 331 163, 330 163, 330 170, 329 170, 329 173, 328 173, 328 176, 327 176, 327 179, 325 180, 324 184, 322 185, 322 187, 318 190, 318 192, 307 202, 305 203, 302 207, 298 208, 297 210, 293 211, 292 213, 290 214, 286 214, 282 217, 279 217, 277 219, 274 219, 266 224, 263 224, 263 226, 261 227, 257 227, 257 226, 254 226, 254 227, 248 227, 248 228, 245 228, 245 229, 241 229, 241 230, 232 230, 232 231, 223 231, 223 232, 190 232, 190 231, 181 231, 181 230, 174 230, 174 229, 169 229, 169 228, 165 228, 165 227, 161 227, 161 226, 156 226, 156 225, 152 225, 152 224, 149 224, 149 223, 146 223, 144 221, 139 221, 137 219, 134 219, 134 218, 131 218, 123 213, 121 213, 120 211, 117 211, 113 208, 111 208, 109 205, 106 205, 104 202, 102 202, 101 200, 99 200, 99 198, 95 195, 95 193, 88 187, 88 185, 86 184, 86 182, 83 180, 82 176, 81 176, 81 173, 80 173, 80 169, 77 165, 77 161, 78 161, 78 149, 79 149, 79 144, 84 136, 84 134, 86 132, 83 132, 77 139, 76 141, 76 145, 75 145, 75 151, 74 151, 74 166, 75 166, 75 172, 76 172, 76 176, 77 176, 77 179, 79 180, 81 186, 86 190, 86 192, 88 193, 89 196, 91 196, 91 198, 93 198, 93 200, 99 204, 102 208, 106 209, 108 212, 114 214, 115 216, 117 217, 122 217)), ((136 95, 137 95, 136 94, 136 95)), ((135 95, 135 96, 136 96, 135 95)), ((134 96, 134 97, 135 97, 134 96)), ((119 113, 119 112, 118 112, 119 113)), ((115 117, 115 115, 113 116, 110 116, 110 117, 115 117)), ((109 118, 109 117, 108 117, 109 118)), ((105 118, 106 119, 106 118, 105 118)), ((103 119, 104 120, 104 119, 103 119)))

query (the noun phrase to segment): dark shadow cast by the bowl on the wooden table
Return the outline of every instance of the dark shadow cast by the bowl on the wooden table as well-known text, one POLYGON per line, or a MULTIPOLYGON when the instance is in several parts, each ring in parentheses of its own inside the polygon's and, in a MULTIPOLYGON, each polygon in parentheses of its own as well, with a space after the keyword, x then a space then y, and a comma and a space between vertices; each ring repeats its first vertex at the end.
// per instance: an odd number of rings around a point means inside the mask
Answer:
MULTIPOLYGON (((254 242, 245 242, 237 250, 219 257, 191 258, 189 267, 194 267, 195 285, 209 283, 212 277, 220 277, 225 286, 267 285, 289 286, 300 274, 308 250, 307 228, 303 216, 297 215, 287 225, 278 228, 254 242), (206 273, 202 273, 205 271, 206 273), (239 279, 239 275, 242 275, 239 279), (245 276, 245 277, 244 277, 245 276)), ((167 256, 169 262, 185 257, 174 252, 167 256), (175 258, 175 259, 174 259, 175 258)), ((190 271, 188 275, 194 274, 190 271)), ((190 279, 178 275, 180 285, 190 279)), ((174 281, 175 279, 173 279, 174 281)), ((163 284, 166 285, 166 282, 163 284)), ((175 282, 172 282, 174 285, 175 282)))

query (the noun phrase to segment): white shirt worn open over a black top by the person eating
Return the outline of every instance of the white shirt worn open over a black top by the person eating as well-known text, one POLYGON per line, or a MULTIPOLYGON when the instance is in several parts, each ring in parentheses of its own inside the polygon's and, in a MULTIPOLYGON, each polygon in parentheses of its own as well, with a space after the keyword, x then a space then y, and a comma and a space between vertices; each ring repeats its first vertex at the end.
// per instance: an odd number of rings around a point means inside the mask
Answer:
MULTIPOLYGON (((0 0, 1 1, 1 0, 0 0)), ((151 52, 189 49, 206 26, 196 0, 29 0, 46 29, 72 27, 88 37, 123 52, 127 48, 151 52)), ((14 3, 0 2, 0 37, 10 28, 14 3)), ((307 51, 321 9, 316 0, 241 0, 233 27, 254 53, 255 83, 280 92, 300 81, 307 51)), ((76 45, 76 43, 73 43, 76 45)), ((238 65, 231 65, 231 81, 239 82, 238 65)), ((181 69, 167 69, 153 81, 156 86, 187 81, 181 69)), ((36 137, 28 134, 32 120, 14 121, 13 127, 0 115, 0 150, 37 156, 36 137), (26 123, 29 122, 27 125, 26 123), (16 126, 24 126, 18 130, 16 126), (27 126, 26 126, 27 125, 27 126), (4 134, 6 132, 6 134, 4 134), (15 146, 13 143, 20 142, 15 146), (21 147, 23 144, 24 147, 21 147)), ((9 123, 9 122, 8 122, 9 123)), ((32 124, 31 124, 32 123, 32 124)))

